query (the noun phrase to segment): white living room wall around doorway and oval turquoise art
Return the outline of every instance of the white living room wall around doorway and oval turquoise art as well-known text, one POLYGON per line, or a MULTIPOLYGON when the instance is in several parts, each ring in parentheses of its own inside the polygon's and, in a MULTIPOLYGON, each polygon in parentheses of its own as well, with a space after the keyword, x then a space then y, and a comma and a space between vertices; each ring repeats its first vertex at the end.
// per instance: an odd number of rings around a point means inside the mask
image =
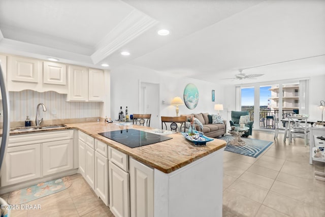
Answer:
MULTIPOLYGON (((197 86, 199 90, 199 103, 192 110, 188 109, 185 105, 179 106, 179 114, 216 113, 214 104, 225 103, 224 90, 212 82, 171 77, 150 69, 125 65, 111 70, 111 116, 113 119, 118 118, 120 106, 122 106, 123 111, 127 106, 129 114, 139 112, 140 81, 160 84, 160 96, 157 96, 160 102, 160 116, 176 116, 175 106, 171 106, 170 103, 176 96, 183 99, 184 88, 188 83, 193 83, 197 86), (211 100, 212 89, 215 90, 215 102, 211 100), (165 104, 162 101, 165 101, 165 104)), ((161 126, 150 127, 160 128, 161 126)))

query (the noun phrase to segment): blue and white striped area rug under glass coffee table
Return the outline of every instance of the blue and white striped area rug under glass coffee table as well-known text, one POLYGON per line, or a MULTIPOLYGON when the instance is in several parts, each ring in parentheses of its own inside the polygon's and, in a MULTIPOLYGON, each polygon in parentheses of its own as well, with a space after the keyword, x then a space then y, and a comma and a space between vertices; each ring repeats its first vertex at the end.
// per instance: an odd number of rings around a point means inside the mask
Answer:
POLYGON ((224 148, 225 151, 231 151, 253 158, 257 158, 259 154, 261 154, 267 147, 269 147, 273 143, 270 141, 259 139, 242 138, 242 140, 245 141, 246 145, 236 146, 229 144, 229 142, 234 139, 233 136, 224 136, 218 139, 222 139, 227 142, 227 145, 224 148))

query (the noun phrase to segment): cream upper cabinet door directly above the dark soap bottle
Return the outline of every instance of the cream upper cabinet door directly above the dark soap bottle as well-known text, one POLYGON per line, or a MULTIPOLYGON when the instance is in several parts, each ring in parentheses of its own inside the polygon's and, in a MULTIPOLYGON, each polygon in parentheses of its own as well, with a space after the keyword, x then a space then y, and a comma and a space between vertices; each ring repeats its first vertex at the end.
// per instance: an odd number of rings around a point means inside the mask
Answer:
POLYGON ((39 64, 37 59, 29 59, 18 56, 10 57, 11 80, 38 83, 39 64))

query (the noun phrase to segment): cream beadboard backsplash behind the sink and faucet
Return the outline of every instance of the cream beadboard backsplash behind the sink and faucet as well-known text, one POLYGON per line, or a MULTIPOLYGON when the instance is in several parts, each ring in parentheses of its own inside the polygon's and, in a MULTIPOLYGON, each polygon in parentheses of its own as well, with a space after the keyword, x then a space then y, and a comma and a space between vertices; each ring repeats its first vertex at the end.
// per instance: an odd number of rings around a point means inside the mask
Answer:
MULTIPOLYGON (((10 121, 24 121, 26 116, 35 121, 36 108, 43 103, 47 111, 43 112, 40 107, 40 118, 44 120, 72 119, 99 117, 101 103, 99 102, 66 102, 67 95, 58 94, 54 91, 37 92, 34 90, 23 90, 20 92, 9 92, 10 99, 10 121)), ((2 109, 2 104, 0 104, 2 109)), ((3 121, 3 116, 1 116, 3 121)))

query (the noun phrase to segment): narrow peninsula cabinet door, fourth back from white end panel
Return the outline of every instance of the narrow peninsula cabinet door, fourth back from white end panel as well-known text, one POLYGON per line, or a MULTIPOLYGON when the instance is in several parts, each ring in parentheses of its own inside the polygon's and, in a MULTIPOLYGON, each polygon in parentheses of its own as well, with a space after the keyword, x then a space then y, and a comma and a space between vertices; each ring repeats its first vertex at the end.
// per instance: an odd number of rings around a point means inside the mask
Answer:
POLYGON ((90 185, 92 189, 94 189, 94 176, 95 176, 95 157, 94 157, 94 149, 89 147, 88 145, 85 146, 85 164, 86 164, 86 173, 85 179, 90 185))

